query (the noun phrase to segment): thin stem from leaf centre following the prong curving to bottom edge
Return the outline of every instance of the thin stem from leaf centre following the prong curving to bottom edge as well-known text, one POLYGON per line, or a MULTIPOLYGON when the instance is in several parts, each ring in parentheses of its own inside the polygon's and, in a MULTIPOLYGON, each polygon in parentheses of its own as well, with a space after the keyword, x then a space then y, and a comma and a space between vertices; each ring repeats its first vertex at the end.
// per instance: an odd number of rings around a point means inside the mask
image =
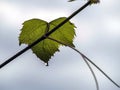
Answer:
MULTIPOLYGON (((72 46, 70 46, 70 45, 67 45, 67 44, 65 44, 65 43, 63 43, 63 42, 61 42, 61 41, 58 41, 58 40, 56 40, 56 39, 53 39, 53 38, 51 38, 51 37, 47 37, 47 39, 50 39, 50 40, 55 41, 55 42, 57 42, 57 43, 60 43, 60 44, 62 44, 62 45, 68 46, 68 47, 70 47, 71 49, 73 49, 74 51, 76 51, 77 53, 79 53, 79 54, 81 55, 80 51, 78 51, 76 48, 74 48, 74 47, 72 47, 72 46)), ((81 56, 82 56, 82 55, 81 55, 81 56)), ((83 58, 83 60, 85 61, 85 63, 87 64, 88 68, 90 69, 90 71, 91 71, 91 73, 92 73, 92 75, 93 75, 93 78, 94 78, 95 84, 96 84, 96 90, 99 90, 98 80, 97 80, 97 78, 96 78, 96 75, 95 75, 92 67, 90 66, 90 64, 88 63, 88 61, 86 60, 86 58, 84 58, 83 56, 82 56, 82 58, 83 58)))

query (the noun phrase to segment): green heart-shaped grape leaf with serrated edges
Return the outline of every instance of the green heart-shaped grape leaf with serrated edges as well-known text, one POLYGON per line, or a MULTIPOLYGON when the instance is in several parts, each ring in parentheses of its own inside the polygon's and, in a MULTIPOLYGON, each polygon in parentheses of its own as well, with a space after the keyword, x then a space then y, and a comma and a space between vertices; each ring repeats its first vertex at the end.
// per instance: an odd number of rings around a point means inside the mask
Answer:
MULTIPOLYGON (((31 19, 25 21, 23 23, 23 27, 19 36, 19 44, 32 44, 34 41, 45 35, 47 32, 51 31, 65 19, 66 17, 61 17, 51 21, 50 23, 40 19, 31 19)), ((66 24, 52 33, 49 37, 55 38, 56 40, 62 41, 65 44, 74 47, 74 28, 74 24, 68 21, 66 24)), ((39 42, 37 45, 33 46, 31 49, 38 58, 40 58, 45 63, 48 63, 49 59, 54 56, 55 52, 59 51, 60 45, 61 44, 46 38, 45 40, 39 42)))

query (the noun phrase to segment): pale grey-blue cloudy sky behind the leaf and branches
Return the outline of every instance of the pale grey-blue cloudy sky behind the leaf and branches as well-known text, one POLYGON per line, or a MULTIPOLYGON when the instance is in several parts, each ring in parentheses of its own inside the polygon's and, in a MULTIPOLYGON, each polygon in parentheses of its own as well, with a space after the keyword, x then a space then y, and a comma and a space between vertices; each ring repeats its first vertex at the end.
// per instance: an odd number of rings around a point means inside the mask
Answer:
MULTIPOLYGON (((69 16, 86 1, 0 0, 0 64, 22 50, 18 36, 22 23, 32 18, 51 21, 69 16)), ((74 44, 120 84, 120 0, 101 0, 71 21, 74 44)), ((46 67, 29 50, 0 70, 0 90, 95 90, 93 77, 75 51, 61 47, 46 67)), ((94 68, 94 67, 93 67, 94 68)), ((97 69, 100 90, 119 90, 97 69)))

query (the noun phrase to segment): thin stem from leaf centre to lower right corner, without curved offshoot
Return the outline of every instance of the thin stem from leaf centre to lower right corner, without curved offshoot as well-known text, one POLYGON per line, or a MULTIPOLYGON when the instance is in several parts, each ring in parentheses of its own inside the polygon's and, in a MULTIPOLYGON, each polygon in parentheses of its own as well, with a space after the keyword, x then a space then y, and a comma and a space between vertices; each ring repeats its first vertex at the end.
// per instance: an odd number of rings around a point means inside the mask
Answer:
MULTIPOLYGON (((51 39, 51 40, 54 40, 54 41, 56 41, 56 42, 58 42, 58 43, 61 43, 61 44, 65 45, 65 46, 68 46, 68 47, 74 49, 75 51, 77 51, 84 59, 86 59, 86 60, 89 61, 91 64, 93 64, 106 78, 108 78, 108 80, 110 80, 115 86, 117 86, 118 88, 120 88, 120 85, 118 85, 114 80, 112 80, 102 69, 100 69, 91 59, 89 59, 89 58, 88 58, 87 56, 85 56, 83 53, 81 53, 80 51, 78 51, 78 50, 75 49, 74 47, 71 47, 71 46, 69 46, 69 45, 67 45, 67 44, 65 44, 65 43, 63 43, 63 42, 61 42, 61 41, 55 40, 55 39, 50 38, 50 37, 47 37, 47 38, 48 38, 48 39, 51 39)), ((85 61, 86 61, 86 60, 85 60, 85 61)))

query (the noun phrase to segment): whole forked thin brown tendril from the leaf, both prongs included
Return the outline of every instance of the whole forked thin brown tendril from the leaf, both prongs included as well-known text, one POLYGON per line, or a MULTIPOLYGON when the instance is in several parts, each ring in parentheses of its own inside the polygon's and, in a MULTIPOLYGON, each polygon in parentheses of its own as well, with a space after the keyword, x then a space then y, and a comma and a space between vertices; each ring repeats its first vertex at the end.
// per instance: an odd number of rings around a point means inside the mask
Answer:
MULTIPOLYGON (((87 61, 89 61, 89 62, 90 62, 91 64, 93 64, 106 78, 108 78, 108 80, 110 80, 115 86, 117 86, 118 88, 120 88, 120 86, 119 86, 115 81, 113 81, 102 69, 100 69, 92 60, 90 60, 90 59, 89 59, 87 56, 85 56, 82 52, 78 51, 78 50, 75 49, 74 47, 71 47, 71 46, 69 46, 69 45, 67 45, 67 44, 65 44, 65 43, 63 43, 63 42, 61 42, 61 41, 55 40, 55 39, 50 38, 50 37, 47 37, 47 38, 50 39, 50 40, 56 41, 56 42, 58 42, 58 43, 61 43, 61 44, 65 45, 65 46, 68 46, 68 47, 72 48, 73 50, 75 50, 76 52, 78 52, 78 53, 82 56, 82 58, 84 59, 84 61, 86 62, 86 64, 88 63, 87 61), (86 60, 87 60, 87 61, 86 61, 86 60)), ((88 64, 88 67, 89 67, 89 64, 88 64)), ((89 67, 89 69, 91 70, 91 67, 89 67)), ((92 71, 93 71, 93 70, 91 70, 91 72, 92 72, 92 71)), ((97 89, 99 89, 99 87, 98 87, 98 82, 97 82, 97 79, 96 79, 96 76, 95 76, 94 72, 92 72, 92 74, 93 74, 93 76, 94 76, 97 89)))

